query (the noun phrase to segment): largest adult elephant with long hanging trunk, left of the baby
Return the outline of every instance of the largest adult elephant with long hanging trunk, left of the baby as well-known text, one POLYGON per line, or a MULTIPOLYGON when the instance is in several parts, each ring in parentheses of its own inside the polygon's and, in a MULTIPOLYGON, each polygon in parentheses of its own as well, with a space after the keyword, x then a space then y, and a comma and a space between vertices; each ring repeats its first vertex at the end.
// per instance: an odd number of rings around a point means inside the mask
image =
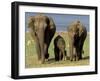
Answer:
POLYGON ((38 60, 44 63, 49 57, 48 48, 56 31, 54 21, 51 17, 38 14, 29 18, 28 27, 36 43, 38 60))

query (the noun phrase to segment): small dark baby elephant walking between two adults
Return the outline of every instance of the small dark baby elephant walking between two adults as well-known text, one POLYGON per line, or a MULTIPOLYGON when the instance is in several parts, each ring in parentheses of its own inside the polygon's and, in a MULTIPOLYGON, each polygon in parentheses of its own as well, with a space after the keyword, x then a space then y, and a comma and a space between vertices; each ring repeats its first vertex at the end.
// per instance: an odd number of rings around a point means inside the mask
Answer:
POLYGON ((66 60, 66 50, 65 50, 65 41, 63 37, 58 35, 54 39, 54 53, 55 53, 55 60, 66 60))

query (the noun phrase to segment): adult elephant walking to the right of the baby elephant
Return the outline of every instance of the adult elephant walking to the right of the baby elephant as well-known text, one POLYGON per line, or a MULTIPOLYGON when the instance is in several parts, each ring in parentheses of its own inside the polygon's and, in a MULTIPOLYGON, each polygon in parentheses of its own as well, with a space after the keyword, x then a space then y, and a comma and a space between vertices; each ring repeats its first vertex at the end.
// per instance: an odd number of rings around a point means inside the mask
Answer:
POLYGON ((74 21, 68 27, 70 60, 82 59, 84 41, 87 30, 80 21, 74 21))

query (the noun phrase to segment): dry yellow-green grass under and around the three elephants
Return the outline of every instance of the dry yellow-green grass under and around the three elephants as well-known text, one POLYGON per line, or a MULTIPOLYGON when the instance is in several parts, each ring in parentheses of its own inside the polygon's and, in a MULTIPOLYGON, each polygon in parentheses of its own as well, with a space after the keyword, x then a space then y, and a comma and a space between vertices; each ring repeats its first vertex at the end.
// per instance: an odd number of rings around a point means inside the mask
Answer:
MULTIPOLYGON (((59 66, 80 66, 80 65, 89 65, 89 34, 87 35, 87 38, 84 43, 84 54, 82 54, 83 59, 80 61, 59 61, 56 62, 54 60, 54 45, 53 41, 54 38, 58 35, 56 33, 51 41, 50 47, 49 47, 49 61, 46 61, 44 64, 38 63, 37 60, 37 53, 35 48, 35 42, 32 40, 32 37, 28 32, 25 34, 25 67, 26 68, 36 68, 36 67, 59 67, 59 66)), ((66 42, 66 50, 68 52, 68 36, 67 32, 60 33, 60 35, 64 38, 66 42)))

